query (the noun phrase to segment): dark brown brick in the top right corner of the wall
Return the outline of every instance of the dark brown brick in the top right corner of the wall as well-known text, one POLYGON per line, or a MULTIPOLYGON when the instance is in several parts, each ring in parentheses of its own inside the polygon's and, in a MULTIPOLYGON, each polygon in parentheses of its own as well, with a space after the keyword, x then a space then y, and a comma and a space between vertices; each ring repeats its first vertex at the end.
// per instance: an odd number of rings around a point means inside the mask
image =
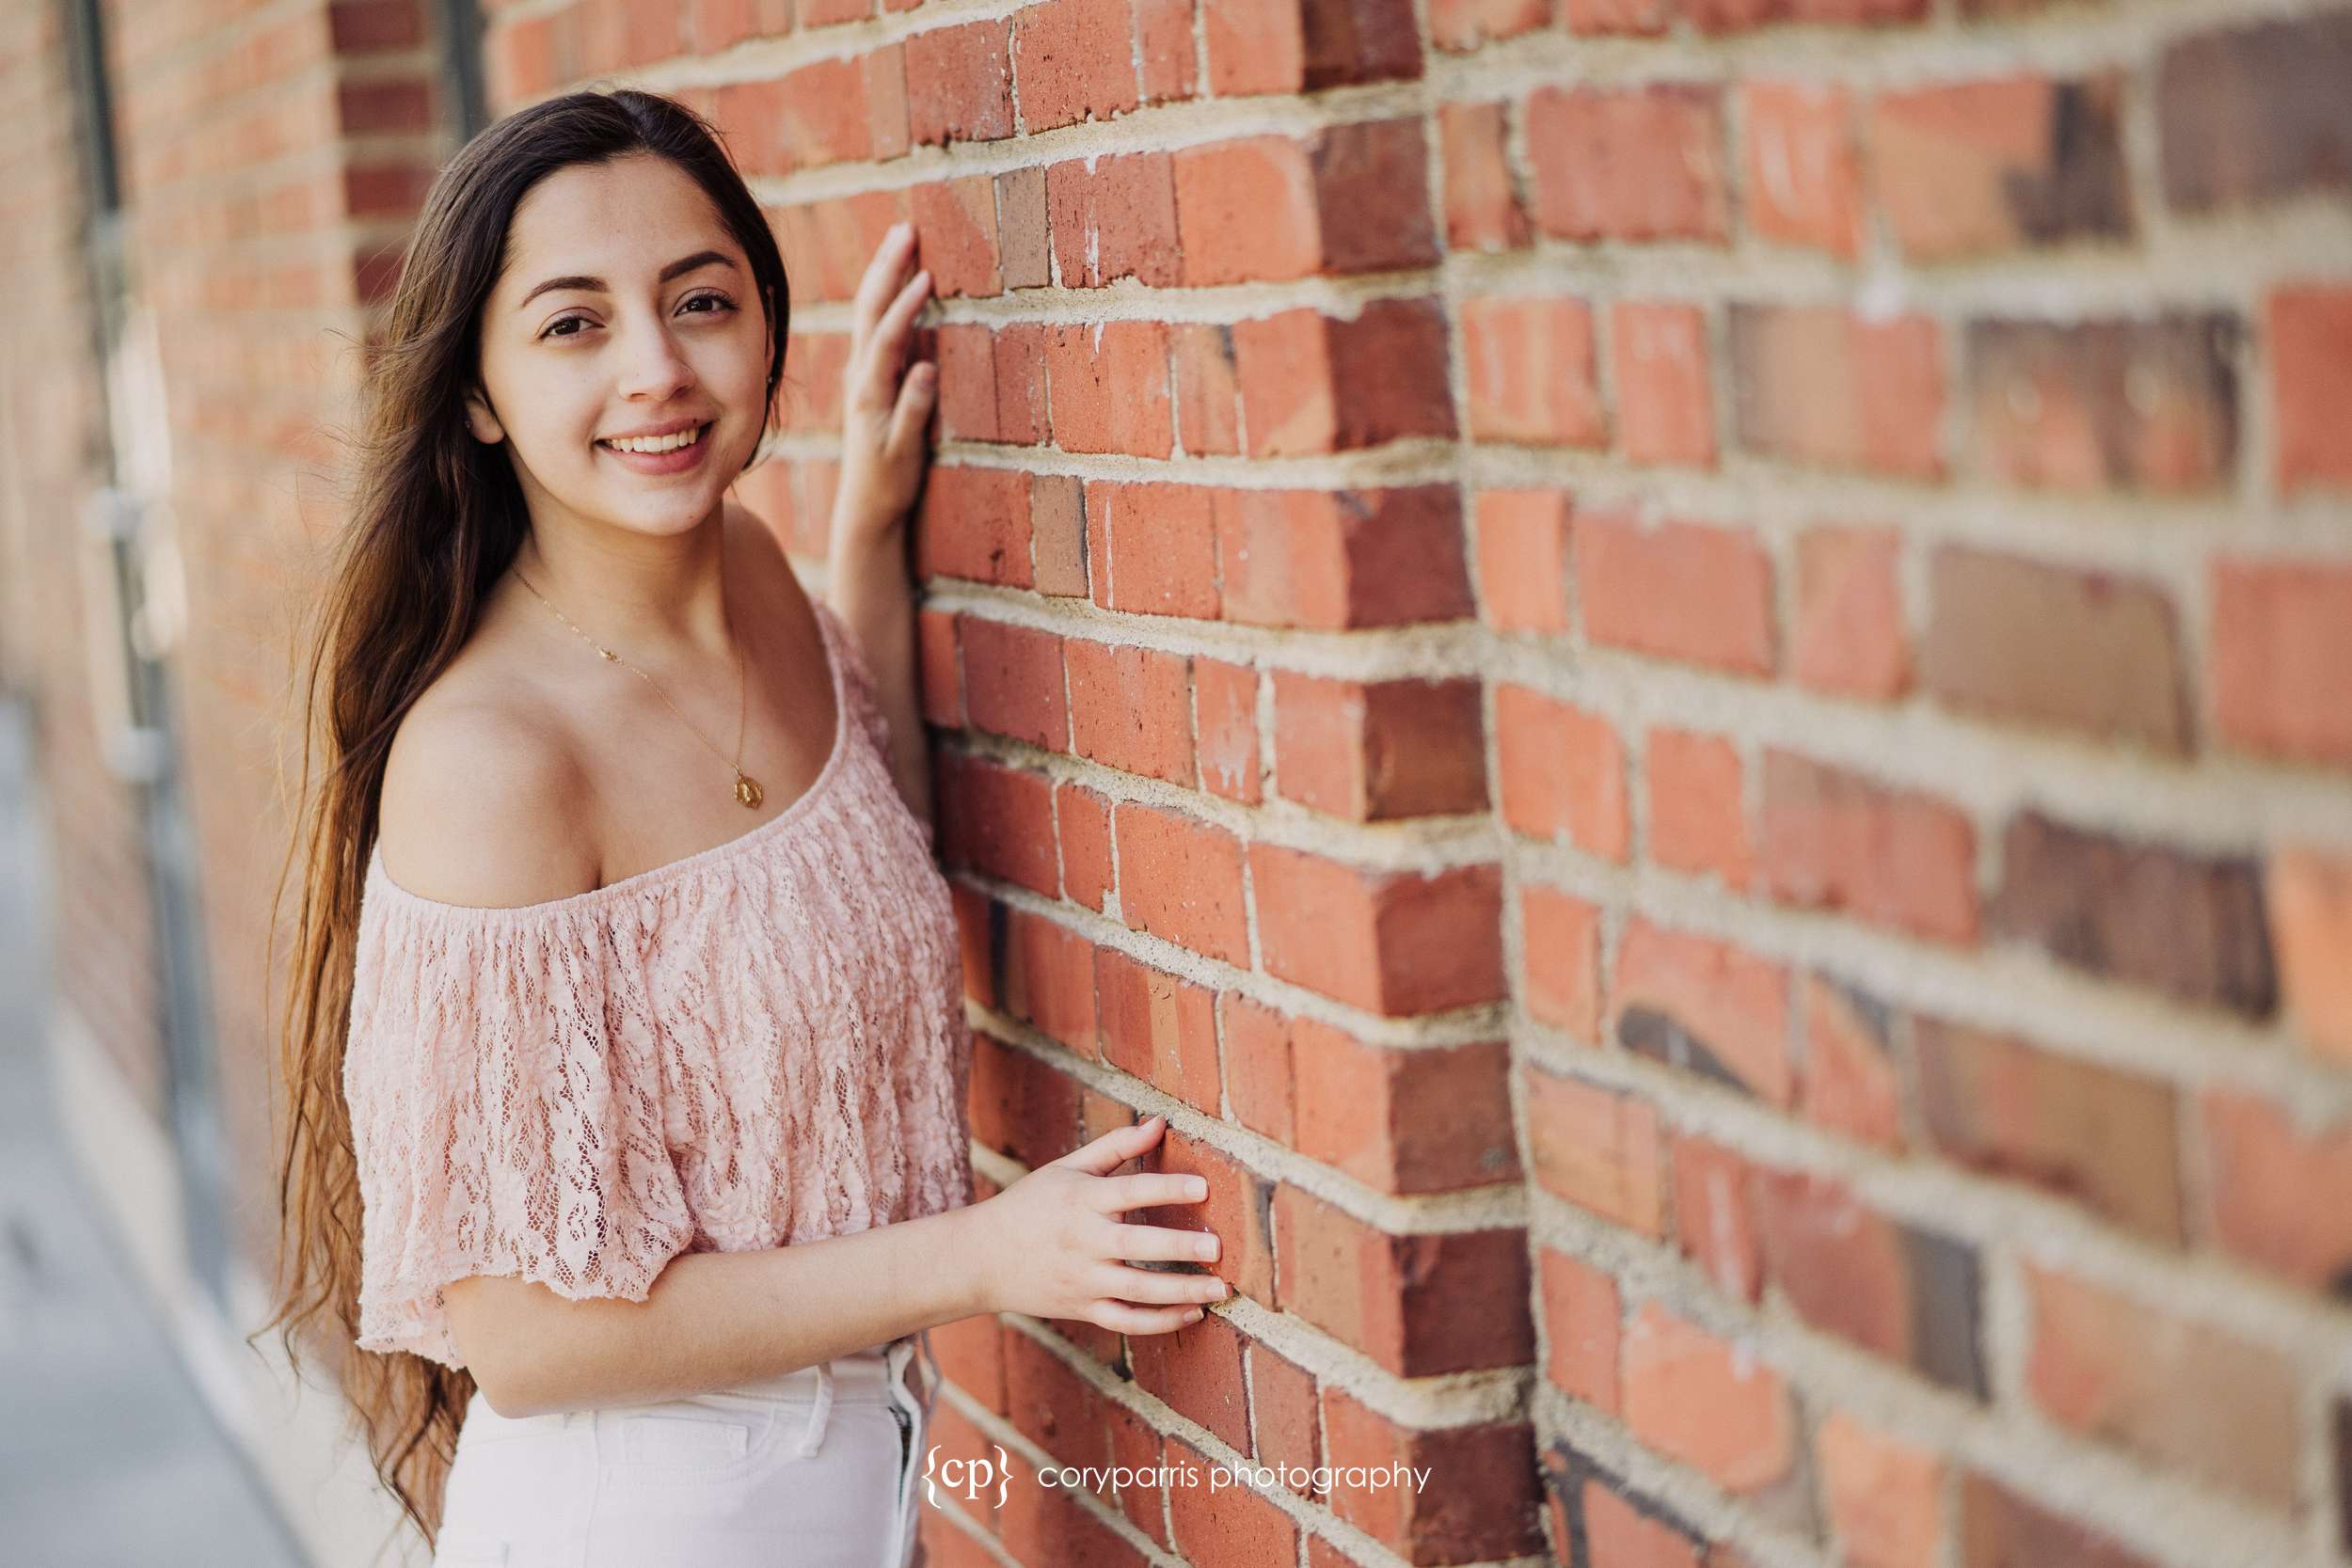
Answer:
POLYGON ((2157 66, 2164 200, 2183 212, 2352 188, 2352 16, 2213 28, 2157 66))

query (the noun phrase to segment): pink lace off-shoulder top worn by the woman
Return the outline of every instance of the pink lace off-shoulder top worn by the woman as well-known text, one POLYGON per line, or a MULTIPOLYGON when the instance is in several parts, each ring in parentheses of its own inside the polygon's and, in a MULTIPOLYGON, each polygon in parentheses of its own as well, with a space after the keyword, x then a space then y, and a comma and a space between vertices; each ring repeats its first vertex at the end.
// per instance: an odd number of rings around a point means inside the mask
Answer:
POLYGON ((343 1093, 362 1349, 463 1366, 442 1286, 642 1302, 680 1253, 971 1201, 971 1039, 948 884, 887 764, 856 639, 816 602, 837 724, 741 837, 515 907, 369 856, 343 1093))

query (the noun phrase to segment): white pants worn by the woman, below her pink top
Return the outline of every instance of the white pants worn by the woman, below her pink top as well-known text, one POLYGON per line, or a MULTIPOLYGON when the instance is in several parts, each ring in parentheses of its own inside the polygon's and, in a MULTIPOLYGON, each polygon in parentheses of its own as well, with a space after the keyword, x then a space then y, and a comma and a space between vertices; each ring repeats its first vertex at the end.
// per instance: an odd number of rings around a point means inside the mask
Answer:
POLYGON ((908 1335, 663 1403, 506 1418, 475 1394, 433 1568, 908 1568, 936 1389, 908 1335))

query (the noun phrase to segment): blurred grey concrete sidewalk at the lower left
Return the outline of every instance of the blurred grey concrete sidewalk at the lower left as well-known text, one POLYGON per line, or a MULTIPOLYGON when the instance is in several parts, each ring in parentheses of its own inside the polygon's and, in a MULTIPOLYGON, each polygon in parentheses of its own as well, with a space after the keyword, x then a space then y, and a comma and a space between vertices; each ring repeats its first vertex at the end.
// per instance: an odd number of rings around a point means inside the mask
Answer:
POLYGON ((0 1561, 308 1568, 56 1135, 28 719, 0 701, 0 1561))

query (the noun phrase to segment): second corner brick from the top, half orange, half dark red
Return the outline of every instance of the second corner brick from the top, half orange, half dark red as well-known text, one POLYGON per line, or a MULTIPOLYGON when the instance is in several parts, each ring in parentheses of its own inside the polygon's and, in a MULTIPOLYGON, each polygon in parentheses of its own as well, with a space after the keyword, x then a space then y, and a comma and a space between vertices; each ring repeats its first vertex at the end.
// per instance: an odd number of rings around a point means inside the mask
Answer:
POLYGON ((1181 148, 1183 282, 1277 282, 1437 259, 1418 118, 1338 125, 1305 141, 1181 148))

